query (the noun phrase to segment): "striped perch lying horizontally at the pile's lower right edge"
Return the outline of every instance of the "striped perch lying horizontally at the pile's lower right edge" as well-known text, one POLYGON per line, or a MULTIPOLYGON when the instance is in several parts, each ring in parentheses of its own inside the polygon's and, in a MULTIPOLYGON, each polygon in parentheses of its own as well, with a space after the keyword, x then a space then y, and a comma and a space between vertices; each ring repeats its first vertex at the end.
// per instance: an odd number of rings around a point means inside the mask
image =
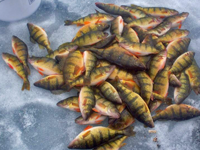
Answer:
POLYGON ((173 104, 153 116, 153 120, 188 120, 200 116, 200 110, 186 104, 173 104))

